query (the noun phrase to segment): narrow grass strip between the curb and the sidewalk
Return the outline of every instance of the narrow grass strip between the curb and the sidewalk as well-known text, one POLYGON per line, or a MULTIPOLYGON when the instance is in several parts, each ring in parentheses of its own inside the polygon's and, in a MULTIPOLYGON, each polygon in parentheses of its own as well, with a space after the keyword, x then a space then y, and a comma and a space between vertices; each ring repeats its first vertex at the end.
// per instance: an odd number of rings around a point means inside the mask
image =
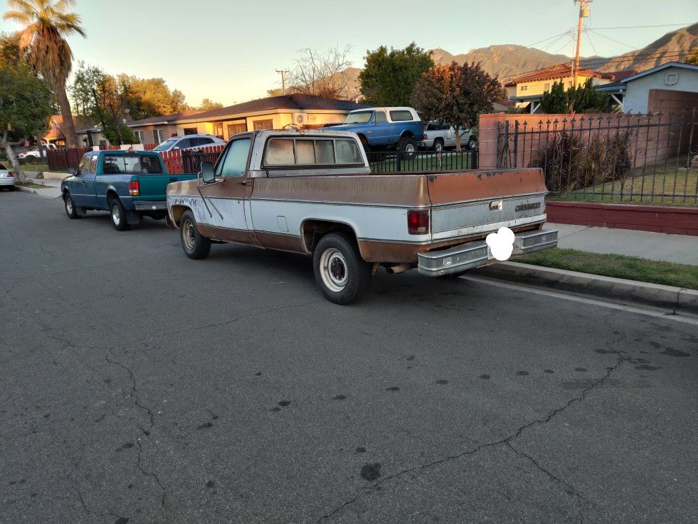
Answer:
POLYGON ((657 262, 639 259, 636 256, 588 253, 557 247, 519 256, 515 261, 605 277, 698 289, 698 265, 657 262))

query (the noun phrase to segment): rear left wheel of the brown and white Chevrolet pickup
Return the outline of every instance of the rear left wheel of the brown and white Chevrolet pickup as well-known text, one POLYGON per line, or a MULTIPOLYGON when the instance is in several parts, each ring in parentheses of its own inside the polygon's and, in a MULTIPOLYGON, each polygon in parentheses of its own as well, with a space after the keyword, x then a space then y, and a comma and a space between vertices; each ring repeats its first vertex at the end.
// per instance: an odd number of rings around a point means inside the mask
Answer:
POLYGON ((313 254, 315 282, 330 302, 347 305, 361 299, 371 284, 371 264, 364 261, 355 240, 329 233, 313 254))

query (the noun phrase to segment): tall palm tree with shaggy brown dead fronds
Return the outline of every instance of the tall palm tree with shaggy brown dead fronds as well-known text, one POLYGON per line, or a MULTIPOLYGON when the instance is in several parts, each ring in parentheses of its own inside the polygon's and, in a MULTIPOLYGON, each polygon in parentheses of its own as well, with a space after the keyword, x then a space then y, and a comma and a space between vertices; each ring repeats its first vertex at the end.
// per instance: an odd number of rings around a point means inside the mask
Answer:
POLYGON ((73 51, 66 36, 87 36, 80 27, 80 16, 66 12, 75 0, 8 0, 4 20, 24 26, 20 31, 20 49, 27 62, 54 90, 63 116, 63 133, 68 147, 77 147, 73 112, 66 94, 66 80, 73 68, 73 51))

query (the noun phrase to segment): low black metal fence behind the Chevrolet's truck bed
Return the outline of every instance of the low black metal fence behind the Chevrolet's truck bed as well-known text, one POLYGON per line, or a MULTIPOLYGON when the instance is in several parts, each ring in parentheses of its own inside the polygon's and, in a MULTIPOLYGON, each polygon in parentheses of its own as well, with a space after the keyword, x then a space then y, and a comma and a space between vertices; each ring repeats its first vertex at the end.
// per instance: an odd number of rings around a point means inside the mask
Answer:
POLYGON ((405 151, 366 153, 371 173, 415 173, 419 171, 447 171, 477 168, 476 151, 405 151))

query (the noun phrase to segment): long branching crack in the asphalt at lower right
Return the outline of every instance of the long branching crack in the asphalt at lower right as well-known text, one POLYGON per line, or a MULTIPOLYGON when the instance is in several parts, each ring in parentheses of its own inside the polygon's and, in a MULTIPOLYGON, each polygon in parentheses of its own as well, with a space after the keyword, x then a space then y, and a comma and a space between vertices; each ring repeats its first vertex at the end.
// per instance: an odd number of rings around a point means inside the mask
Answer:
MULTIPOLYGON (((614 314, 616 314, 616 312, 611 312, 611 314, 609 314, 609 315, 607 315, 606 317, 604 317, 604 324, 605 324, 607 327, 609 327, 609 328, 610 328, 610 325, 609 325, 608 321, 609 321, 609 319, 611 318, 611 316, 613 316, 614 314)), ((612 346, 612 345, 617 344, 618 342, 620 342, 621 340, 623 340, 624 337, 625 337, 625 333, 620 333, 619 336, 618 336, 618 338, 616 338, 616 339, 614 339, 614 340, 610 340, 609 342, 605 342, 605 344, 606 344, 607 348, 611 349, 611 346, 612 346)), ((621 354, 621 352, 619 352, 619 351, 607 351, 607 352, 608 352, 608 353, 621 354)), ((624 353, 624 352, 623 352, 623 353, 624 353)), ((549 423, 549 421, 551 421, 552 419, 554 419, 554 417, 556 417, 556 416, 557 416, 558 414, 560 414, 561 412, 565 411, 565 409, 567 409, 568 407, 570 407, 570 406, 573 405, 574 403, 576 403, 576 402, 577 402, 577 403, 578 403, 578 402, 582 402, 583 400, 585 400, 585 399, 586 399, 586 395, 587 395, 589 392, 593 391, 595 388, 597 388, 597 387, 601 386, 602 384, 604 384, 604 382, 607 381, 607 379, 609 379, 609 377, 611 376, 611 374, 613 374, 614 372, 616 372, 616 370, 618 370, 618 367, 620 367, 620 365, 621 365, 623 362, 625 362, 625 361, 631 361, 631 362, 632 362, 632 359, 630 359, 630 358, 628 358, 628 357, 625 357, 625 356, 620 356, 620 357, 617 359, 616 364, 613 365, 613 366, 608 367, 607 372, 606 372, 600 379, 594 381, 593 384, 591 384, 591 385, 587 386, 586 388, 584 388, 584 389, 581 391, 581 395, 577 395, 576 397, 572 397, 570 400, 568 400, 568 401, 565 403, 565 405, 563 405, 563 406, 561 406, 561 407, 558 407, 557 409, 554 409, 552 412, 550 412, 550 414, 549 414, 547 417, 542 418, 542 419, 535 419, 534 421, 531 421, 531 422, 529 422, 529 423, 526 423, 526 424, 524 424, 524 425, 521 425, 515 432, 513 432, 511 435, 508 435, 507 437, 504 437, 503 439, 498 439, 498 440, 493 441, 493 442, 487 442, 487 443, 485 443, 485 444, 480 444, 479 446, 476 446, 475 448, 469 449, 469 450, 467 450, 467 451, 463 451, 462 453, 457 453, 456 455, 446 456, 446 457, 440 458, 440 459, 438 459, 438 460, 433 460, 433 461, 430 462, 430 463, 418 465, 418 466, 415 466, 415 467, 410 467, 410 468, 407 468, 406 470, 401 470, 401 471, 396 472, 396 473, 394 473, 394 474, 392 474, 392 475, 385 476, 383 479, 380 479, 379 481, 376 481, 376 482, 374 482, 373 484, 371 484, 371 486, 366 486, 365 488, 360 488, 359 493, 357 493, 357 495, 355 495, 355 497, 352 497, 350 500, 347 500, 346 502, 343 502, 343 504, 341 504, 339 507, 336 507, 333 511, 331 511, 331 512, 325 514, 325 515, 322 515, 320 518, 318 518, 317 521, 315 521, 315 524, 318 524, 318 523, 324 521, 324 520, 327 519, 327 518, 332 518, 334 515, 338 514, 340 511, 342 511, 342 510, 345 509, 346 507, 350 506, 351 504, 353 504, 354 502, 356 502, 357 500, 359 500, 360 497, 362 497, 362 496, 365 495, 366 493, 369 493, 370 490, 372 490, 373 488, 376 488, 376 486, 379 486, 380 484, 385 483, 385 482, 387 482, 387 481, 389 481, 389 480, 396 479, 397 477, 403 476, 404 474, 407 474, 407 473, 410 473, 410 472, 415 472, 415 471, 426 470, 427 468, 434 467, 434 466, 437 466, 437 465, 441 465, 441 464, 450 462, 450 461, 452 461, 452 460, 457 460, 457 459, 463 458, 463 457, 465 457, 465 456, 474 455, 474 454, 477 453, 478 451, 480 451, 480 450, 482 450, 482 449, 485 449, 485 448, 490 448, 490 447, 494 447, 494 446, 501 446, 501 445, 507 445, 507 446, 509 446, 510 448, 514 449, 514 448, 511 446, 510 443, 511 443, 512 441, 516 440, 517 438, 519 438, 519 437, 521 436, 521 434, 522 434, 524 431, 528 430, 529 428, 532 428, 532 427, 535 426, 535 425, 544 425, 544 424, 549 423)), ((514 450, 514 452, 517 452, 517 451, 514 450)), ((544 470, 542 467, 540 467, 540 465, 538 465, 538 464, 535 462, 535 460, 533 460, 533 458, 531 458, 531 457, 529 457, 529 458, 530 458, 530 460, 531 460, 533 463, 535 463, 535 465, 538 467, 538 469, 540 469, 542 472, 545 472, 546 474, 549 474, 549 472, 547 472, 547 470, 544 470)), ((549 474, 549 475, 552 476, 554 479, 559 480, 560 483, 563 483, 563 485, 568 486, 568 487, 571 488, 571 486, 569 486, 569 484, 567 484, 566 482, 564 482, 564 481, 558 479, 556 476, 554 476, 554 475, 552 475, 552 474, 549 474)), ((579 495, 579 494, 577 493, 577 490, 574 490, 574 488, 571 488, 571 489, 572 489, 572 494, 573 494, 573 495, 575 495, 576 497, 579 497, 579 498, 581 498, 582 500, 585 500, 585 501, 586 501, 586 499, 584 499, 584 497, 581 497, 581 495, 579 495)), ((581 512, 581 509, 579 509, 578 511, 579 511, 579 519, 580 519, 580 522, 581 522, 581 523, 584 523, 584 514, 581 512)))

